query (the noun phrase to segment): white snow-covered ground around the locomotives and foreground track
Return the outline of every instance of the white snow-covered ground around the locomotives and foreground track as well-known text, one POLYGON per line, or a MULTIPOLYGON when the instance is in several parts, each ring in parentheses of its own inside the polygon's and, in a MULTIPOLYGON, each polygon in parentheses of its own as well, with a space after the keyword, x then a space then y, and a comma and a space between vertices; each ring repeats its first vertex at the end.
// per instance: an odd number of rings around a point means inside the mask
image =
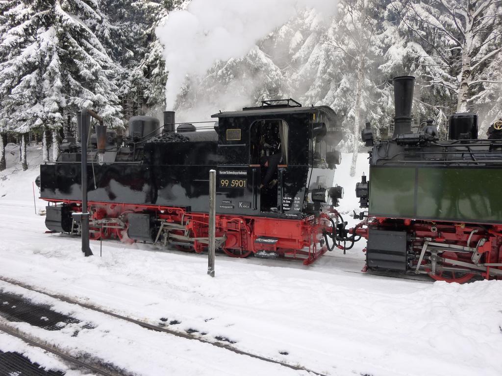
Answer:
MULTIPOLYGON (((365 156, 361 154, 354 178, 347 177, 348 155, 337 169, 335 182, 345 187, 341 212, 358 211, 353 190, 360 174, 367 173, 365 156)), ((195 329, 207 333, 207 339, 226 337, 239 349, 330 375, 502 374, 502 281, 458 285, 360 274, 363 241, 347 255, 333 251, 310 267, 221 256, 215 278, 206 275, 205 256, 152 245, 107 241, 99 257, 99 243, 91 242, 96 256, 84 258, 78 238, 44 234, 44 217, 33 209, 36 168, 12 172, 11 167, 0 173, 1 276, 152 323, 167 319, 162 322, 173 330, 195 329)), ((94 347, 70 337, 58 341, 73 351, 94 349, 117 366, 134 364, 144 375, 167 374, 159 369, 217 374, 216 365, 235 369, 239 362, 259 374, 278 371, 244 356, 215 356, 198 345, 170 345, 148 353, 142 346, 149 348, 150 334, 142 333, 134 342, 117 340, 115 348, 103 348, 98 340, 94 347), (173 362, 179 358, 185 361, 173 362), (201 371, 195 362, 199 359, 211 366, 201 371)), ((108 343, 119 334, 100 331, 108 343)), ((177 343, 156 335, 159 346, 177 343)))

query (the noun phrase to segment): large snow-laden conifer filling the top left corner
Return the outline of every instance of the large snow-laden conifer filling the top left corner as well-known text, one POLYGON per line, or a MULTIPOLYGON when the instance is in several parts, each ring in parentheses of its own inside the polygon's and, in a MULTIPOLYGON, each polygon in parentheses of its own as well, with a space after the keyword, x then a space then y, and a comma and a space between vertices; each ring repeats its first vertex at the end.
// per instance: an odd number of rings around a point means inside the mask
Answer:
POLYGON ((109 126, 122 126, 116 85, 120 67, 95 35, 101 25, 107 26, 98 3, 17 0, 3 6, 2 130, 51 130, 55 159, 63 111, 93 108, 109 126))

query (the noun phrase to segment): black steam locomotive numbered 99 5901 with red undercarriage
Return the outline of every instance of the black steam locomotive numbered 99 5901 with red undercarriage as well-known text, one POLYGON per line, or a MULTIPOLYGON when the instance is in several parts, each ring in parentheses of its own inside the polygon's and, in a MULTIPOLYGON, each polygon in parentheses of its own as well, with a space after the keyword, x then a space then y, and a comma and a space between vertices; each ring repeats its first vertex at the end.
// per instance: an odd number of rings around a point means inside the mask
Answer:
POLYGON ((131 118, 128 137, 96 125, 88 145, 80 136, 65 140, 58 160, 40 167, 47 228, 79 235, 82 224, 73 214, 85 210, 91 239, 203 252, 209 170, 215 169, 216 247, 231 257, 310 264, 328 250, 328 238, 354 238, 346 231, 340 236, 343 221, 334 209, 343 189, 332 186, 341 132, 331 108, 287 99, 212 117, 214 126, 196 128, 166 111, 163 126, 154 117, 131 118))

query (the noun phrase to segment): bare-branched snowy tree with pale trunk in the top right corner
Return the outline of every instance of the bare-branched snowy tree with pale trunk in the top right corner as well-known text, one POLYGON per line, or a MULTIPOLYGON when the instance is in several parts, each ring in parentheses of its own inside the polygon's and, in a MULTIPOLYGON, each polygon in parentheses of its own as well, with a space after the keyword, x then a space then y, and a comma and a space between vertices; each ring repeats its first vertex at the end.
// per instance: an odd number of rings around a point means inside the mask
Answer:
POLYGON ((424 0, 393 6, 425 52, 422 76, 454 98, 451 112, 477 110, 494 99, 502 82, 499 1, 424 0))

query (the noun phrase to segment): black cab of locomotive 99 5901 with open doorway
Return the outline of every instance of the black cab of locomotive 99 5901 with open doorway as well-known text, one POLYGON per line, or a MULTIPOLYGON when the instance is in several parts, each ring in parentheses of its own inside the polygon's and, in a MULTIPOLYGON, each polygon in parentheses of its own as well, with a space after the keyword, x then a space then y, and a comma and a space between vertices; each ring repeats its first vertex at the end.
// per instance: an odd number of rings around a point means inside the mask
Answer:
POLYGON ((219 124, 218 212, 296 219, 313 213, 312 193, 333 184, 333 149, 340 141, 329 107, 264 101, 213 117, 219 124))

